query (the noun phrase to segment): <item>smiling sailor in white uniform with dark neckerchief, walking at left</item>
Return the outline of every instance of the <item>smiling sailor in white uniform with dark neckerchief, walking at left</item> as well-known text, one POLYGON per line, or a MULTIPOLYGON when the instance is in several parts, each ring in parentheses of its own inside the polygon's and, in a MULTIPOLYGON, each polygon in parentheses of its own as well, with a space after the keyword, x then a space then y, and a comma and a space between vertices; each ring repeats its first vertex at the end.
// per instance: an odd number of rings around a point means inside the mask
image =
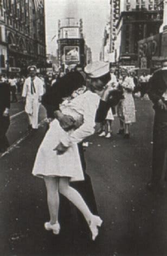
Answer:
POLYGON ((25 112, 29 118, 29 129, 38 129, 38 112, 43 95, 43 81, 36 76, 36 66, 28 67, 29 77, 25 79, 22 97, 26 99, 25 112))

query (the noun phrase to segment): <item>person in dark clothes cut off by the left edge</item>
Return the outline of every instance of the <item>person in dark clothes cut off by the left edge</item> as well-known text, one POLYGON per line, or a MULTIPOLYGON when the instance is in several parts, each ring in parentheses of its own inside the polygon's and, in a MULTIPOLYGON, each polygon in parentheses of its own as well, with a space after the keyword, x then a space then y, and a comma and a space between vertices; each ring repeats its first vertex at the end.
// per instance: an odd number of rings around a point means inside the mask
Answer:
POLYGON ((10 87, 2 80, 0 75, 0 152, 3 153, 9 147, 6 136, 9 128, 9 108, 10 108, 10 87))

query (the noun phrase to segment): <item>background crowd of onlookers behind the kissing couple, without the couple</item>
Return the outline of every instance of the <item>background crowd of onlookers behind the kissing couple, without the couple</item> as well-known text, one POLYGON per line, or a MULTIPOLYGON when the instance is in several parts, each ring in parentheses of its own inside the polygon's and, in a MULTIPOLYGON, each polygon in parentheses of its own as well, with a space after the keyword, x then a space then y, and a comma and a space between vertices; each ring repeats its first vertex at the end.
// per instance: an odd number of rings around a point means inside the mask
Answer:
MULTIPOLYGON (((73 80, 77 79, 75 78, 76 72, 80 72, 84 77, 85 84, 88 83, 88 78, 86 78, 86 73, 81 65, 76 65, 72 70, 66 68, 64 72, 60 68, 58 72, 46 75, 37 74, 35 66, 29 66, 27 71, 27 77, 20 76, 20 74, 11 74, 9 77, 1 75, 0 83, 3 83, 5 90, 8 90, 8 99, 2 86, 1 90, 4 91, 4 93, 1 93, 1 96, 5 101, 15 103, 18 101, 18 95, 22 95, 22 100, 25 102, 25 112, 28 114, 29 119, 28 130, 33 131, 37 131, 38 129, 38 111, 42 99, 44 105, 47 106, 48 124, 55 118, 53 107, 47 105, 46 97, 47 95, 55 94, 55 87, 59 84, 59 81, 62 80, 65 84, 72 84, 74 83, 73 80), (68 78, 70 74, 73 74, 72 78, 68 78), (3 96, 3 94, 5 96, 3 96)), ((112 124, 115 116, 118 115, 120 120, 118 134, 124 135, 124 138, 130 138, 130 125, 136 121, 134 97, 141 97, 141 99, 143 99, 145 93, 147 93, 147 85, 149 84, 150 77, 151 75, 146 75, 145 72, 137 76, 136 70, 128 71, 124 68, 110 68, 110 81, 107 83, 107 87, 111 87, 112 92, 107 102, 108 111, 104 121, 102 121, 102 129, 99 133, 100 137, 112 137, 112 124)), ((63 86, 61 86, 61 90, 63 90, 63 86)), ((70 92, 72 93, 72 91, 70 92)), ((50 97, 53 96, 51 95, 50 97)), ((1 102, 1 104, 5 105, 4 102, 1 102)), ((7 109, 9 109, 10 104, 7 105, 7 109)), ((3 107, 1 108, 3 109, 3 107)), ((7 113, 5 113, 5 115, 7 115, 7 113)), ((7 118, 5 120, 7 120, 7 118)), ((1 139, 0 150, 2 152, 7 150, 9 146, 7 142, 8 139, 5 136, 9 128, 9 122, 9 120, 8 122, 6 121, 8 125, 5 125, 5 129, 1 132, 3 139, 1 139)))

